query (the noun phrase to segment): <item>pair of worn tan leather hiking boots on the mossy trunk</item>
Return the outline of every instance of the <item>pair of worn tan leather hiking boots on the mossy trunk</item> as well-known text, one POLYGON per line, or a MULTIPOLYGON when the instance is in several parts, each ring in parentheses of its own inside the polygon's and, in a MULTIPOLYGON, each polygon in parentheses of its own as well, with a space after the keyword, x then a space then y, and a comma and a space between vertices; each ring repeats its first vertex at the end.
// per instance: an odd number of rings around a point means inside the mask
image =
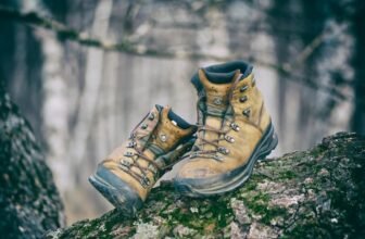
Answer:
POLYGON ((142 206, 156 180, 184 160, 174 178, 188 197, 231 191, 277 146, 252 66, 234 61, 199 70, 198 124, 155 105, 130 137, 98 166, 90 183, 126 216, 142 206))

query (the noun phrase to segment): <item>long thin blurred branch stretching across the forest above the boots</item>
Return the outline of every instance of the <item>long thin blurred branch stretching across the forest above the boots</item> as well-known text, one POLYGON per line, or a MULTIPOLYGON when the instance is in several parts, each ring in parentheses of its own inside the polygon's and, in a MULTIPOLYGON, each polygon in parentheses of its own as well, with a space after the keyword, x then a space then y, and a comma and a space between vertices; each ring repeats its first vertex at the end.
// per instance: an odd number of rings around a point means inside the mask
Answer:
MULTIPOLYGON (((130 40, 124 38, 121 42, 110 42, 104 39, 99 39, 90 36, 88 33, 85 32, 77 32, 76 29, 70 28, 65 26, 64 24, 54 21, 50 17, 40 16, 36 12, 20 12, 14 9, 10 9, 7 7, 0 5, 0 20, 13 20, 21 23, 24 23, 32 27, 40 27, 46 28, 52 32, 55 32, 58 36, 62 40, 72 40, 76 41, 79 45, 86 46, 86 47, 96 47, 103 49, 105 51, 118 51, 124 52, 128 54, 134 55, 141 55, 141 56, 153 56, 153 58, 171 58, 171 59, 190 59, 190 60, 214 60, 214 61, 230 61, 235 59, 242 59, 244 58, 242 54, 229 54, 229 56, 222 56, 222 55, 215 55, 215 54, 206 54, 196 51, 167 51, 167 50, 161 50, 161 49, 152 49, 148 48, 142 45, 138 45, 135 42, 131 42, 130 40)), ((314 39, 312 43, 310 43, 302 53, 299 56, 299 61, 303 62, 305 61, 313 52, 314 50, 324 41, 325 37, 319 35, 314 39)), ((298 81, 300 84, 303 84, 310 88, 313 88, 315 90, 322 90, 324 92, 329 93, 335 99, 338 100, 352 100, 350 96, 347 96, 339 91, 336 87, 327 86, 327 85, 320 85, 317 81, 314 81, 313 79, 307 79, 304 76, 295 76, 293 74, 293 66, 297 65, 295 63, 298 61, 294 61, 293 64, 274 64, 267 61, 262 61, 256 58, 250 58, 250 61, 254 64, 259 64, 262 66, 266 66, 269 68, 274 68, 278 71, 279 73, 288 76, 288 79, 292 81, 298 81), (298 80, 300 78, 300 80, 298 80), (302 80, 305 79, 305 80, 302 80)))

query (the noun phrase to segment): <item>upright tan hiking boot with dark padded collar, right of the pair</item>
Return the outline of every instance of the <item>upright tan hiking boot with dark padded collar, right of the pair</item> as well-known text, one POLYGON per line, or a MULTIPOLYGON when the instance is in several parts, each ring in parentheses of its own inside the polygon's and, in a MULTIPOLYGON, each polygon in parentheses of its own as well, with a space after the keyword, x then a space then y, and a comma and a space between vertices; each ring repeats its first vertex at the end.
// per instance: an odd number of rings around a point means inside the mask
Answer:
POLYGON ((190 197, 231 191, 277 146, 270 116, 244 62, 201 68, 191 81, 199 95, 198 137, 174 185, 190 197))

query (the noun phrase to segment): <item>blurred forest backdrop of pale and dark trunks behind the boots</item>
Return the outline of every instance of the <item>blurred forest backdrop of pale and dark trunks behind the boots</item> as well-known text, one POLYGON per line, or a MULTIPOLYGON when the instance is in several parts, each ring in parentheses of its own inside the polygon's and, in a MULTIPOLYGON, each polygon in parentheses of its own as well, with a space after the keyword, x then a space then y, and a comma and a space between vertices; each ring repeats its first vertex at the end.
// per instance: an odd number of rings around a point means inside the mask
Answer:
POLYGON ((67 223, 110 205, 87 177, 154 103, 196 122, 191 75, 243 59, 275 155, 365 133, 365 1, 1 0, 0 80, 42 143, 67 223))

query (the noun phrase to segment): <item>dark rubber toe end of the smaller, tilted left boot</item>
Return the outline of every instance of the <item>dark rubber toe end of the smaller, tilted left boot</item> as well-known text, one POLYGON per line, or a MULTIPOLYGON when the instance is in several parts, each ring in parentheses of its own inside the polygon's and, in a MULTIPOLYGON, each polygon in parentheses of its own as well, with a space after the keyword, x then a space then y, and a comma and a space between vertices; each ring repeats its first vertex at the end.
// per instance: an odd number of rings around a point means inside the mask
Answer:
POLYGON ((136 191, 103 166, 98 167, 97 173, 89 177, 89 181, 128 218, 134 217, 143 205, 143 201, 136 191))

